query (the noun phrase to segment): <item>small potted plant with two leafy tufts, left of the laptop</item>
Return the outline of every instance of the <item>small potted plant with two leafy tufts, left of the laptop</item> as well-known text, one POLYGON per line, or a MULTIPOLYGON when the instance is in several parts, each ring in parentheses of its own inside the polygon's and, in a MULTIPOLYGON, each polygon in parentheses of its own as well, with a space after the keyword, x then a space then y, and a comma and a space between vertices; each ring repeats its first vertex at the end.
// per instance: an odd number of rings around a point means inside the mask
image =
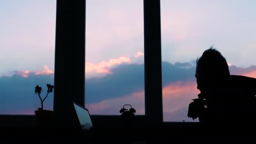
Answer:
POLYGON ((47 95, 45 96, 44 99, 42 99, 41 97, 42 88, 39 87, 38 85, 35 87, 35 94, 39 96, 41 101, 41 107, 35 111, 35 117, 36 117, 38 126, 50 126, 53 124, 53 111, 43 109, 43 102, 47 98, 48 94, 53 92, 54 86, 51 84, 47 84, 47 88, 48 88, 47 95))

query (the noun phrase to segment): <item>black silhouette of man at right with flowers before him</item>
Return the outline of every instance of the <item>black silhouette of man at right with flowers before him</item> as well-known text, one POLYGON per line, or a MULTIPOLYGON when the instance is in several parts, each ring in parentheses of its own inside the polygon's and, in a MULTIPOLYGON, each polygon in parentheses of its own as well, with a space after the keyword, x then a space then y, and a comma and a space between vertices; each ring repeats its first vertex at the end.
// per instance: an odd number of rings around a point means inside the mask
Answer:
POLYGON ((189 117, 220 131, 255 127, 255 78, 230 75, 226 59, 213 47, 197 59, 195 77, 201 93, 189 104, 189 117))

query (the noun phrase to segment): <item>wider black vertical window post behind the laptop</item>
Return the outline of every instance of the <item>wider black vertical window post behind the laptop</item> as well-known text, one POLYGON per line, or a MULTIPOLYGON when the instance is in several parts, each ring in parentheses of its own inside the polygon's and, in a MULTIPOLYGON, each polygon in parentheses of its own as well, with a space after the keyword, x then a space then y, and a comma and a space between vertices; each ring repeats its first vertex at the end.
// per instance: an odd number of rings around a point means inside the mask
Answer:
POLYGON ((53 109, 58 124, 69 127, 72 101, 85 102, 85 0, 57 0, 56 9, 53 109))

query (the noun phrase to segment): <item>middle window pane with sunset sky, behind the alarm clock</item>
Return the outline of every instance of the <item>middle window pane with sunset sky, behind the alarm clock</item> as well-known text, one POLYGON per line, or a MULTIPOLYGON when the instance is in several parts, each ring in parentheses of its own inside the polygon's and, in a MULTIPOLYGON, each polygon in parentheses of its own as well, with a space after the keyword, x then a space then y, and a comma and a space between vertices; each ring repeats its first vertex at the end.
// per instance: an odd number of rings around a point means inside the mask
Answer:
MULTIPOLYGON (((120 115, 125 104, 144 115, 143 0, 86 0, 85 107, 120 115)), ((127 107, 127 109, 130 109, 127 107)))

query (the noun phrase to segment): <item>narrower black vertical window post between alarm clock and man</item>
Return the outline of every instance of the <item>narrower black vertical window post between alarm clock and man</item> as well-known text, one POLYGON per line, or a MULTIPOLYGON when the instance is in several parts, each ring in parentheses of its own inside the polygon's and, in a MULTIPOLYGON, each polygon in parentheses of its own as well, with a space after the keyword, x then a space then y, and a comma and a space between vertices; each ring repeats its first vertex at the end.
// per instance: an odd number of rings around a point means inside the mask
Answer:
POLYGON ((145 114, 163 122, 160 0, 144 0, 145 114))

